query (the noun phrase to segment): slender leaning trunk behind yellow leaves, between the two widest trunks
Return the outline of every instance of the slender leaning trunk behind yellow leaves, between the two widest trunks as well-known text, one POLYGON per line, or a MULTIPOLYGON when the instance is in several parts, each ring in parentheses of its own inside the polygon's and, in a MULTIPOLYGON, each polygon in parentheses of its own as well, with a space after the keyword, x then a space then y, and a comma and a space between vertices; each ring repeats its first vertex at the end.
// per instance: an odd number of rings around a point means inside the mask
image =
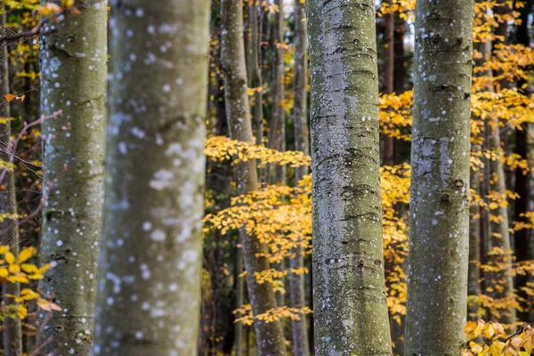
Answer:
MULTIPOLYGON (((223 0, 221 17, 223 21, 222 63, 224 70, 224 92, 230 134, 233 140, 254 142, 247 95, 247 70, 243 45, 243 13, 240 0, 223 0)), ((235 166, 239 194, 257 189, 257 171, 254 160, 239 162, 235 166)), ((255 236, 241 235, 243 259, 247 270, 248 296, 254 315, 277 307, 271 284, 258 284, 255 272, 265 271, 270 265, 262 256, 266 247, 255 236)), ((280 321, 267 323, 255 319, 255 331, 259 355, 279 356, 286 354, 282 324, 280 321)))

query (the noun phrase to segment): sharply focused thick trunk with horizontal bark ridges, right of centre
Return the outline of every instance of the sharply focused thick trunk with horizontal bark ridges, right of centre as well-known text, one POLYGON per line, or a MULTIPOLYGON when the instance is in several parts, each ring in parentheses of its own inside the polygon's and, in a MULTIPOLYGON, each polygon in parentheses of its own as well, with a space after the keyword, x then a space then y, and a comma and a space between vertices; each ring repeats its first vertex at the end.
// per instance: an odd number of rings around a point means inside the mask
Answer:
POLYGON ((391 355, 375 3, 308 0, 315 354, 391 355))

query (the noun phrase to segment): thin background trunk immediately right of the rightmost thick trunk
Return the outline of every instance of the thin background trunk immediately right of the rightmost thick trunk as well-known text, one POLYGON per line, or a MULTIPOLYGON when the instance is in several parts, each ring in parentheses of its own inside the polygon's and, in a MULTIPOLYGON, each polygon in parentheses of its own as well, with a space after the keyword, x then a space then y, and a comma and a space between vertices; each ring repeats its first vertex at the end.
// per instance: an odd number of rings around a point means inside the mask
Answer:
MULTIPOLYGON (((480 145, 473 147, 473 151, 480 151, 480 145)), ((481 194, 481 174, 471 170, 471 189, 481 194)), ((481 207, 472 203, 469 207, 469 274, 467 277, 467 295, 478 298, 481 295, 481 207)), ((467 319, 479 320, 481 304, 468 301, 467 319)))

